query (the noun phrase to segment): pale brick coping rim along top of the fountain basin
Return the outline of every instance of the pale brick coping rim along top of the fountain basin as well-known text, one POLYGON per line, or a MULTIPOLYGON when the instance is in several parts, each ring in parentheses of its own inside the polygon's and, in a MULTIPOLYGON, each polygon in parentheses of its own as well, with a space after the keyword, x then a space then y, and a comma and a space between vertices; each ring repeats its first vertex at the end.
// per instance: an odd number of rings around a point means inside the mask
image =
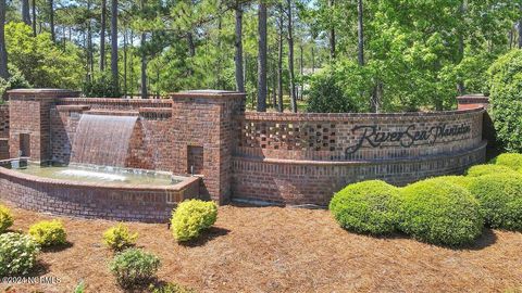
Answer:
POLYGON ((42 183, 42 184, 54 184, 54 186, 63 186, 63 187, 83 187, 83 188, 92 187, 92 188, 103 188, 108 190, 139 190, 139 191, 181 191, 200 180, 199 177, 176 176, 176 177, 184 178, 183 181, 175 184, 171 184, 171 186, 145 186, 145 184, 128 184, 128 183, 123 184, 123 183, 105 183, 105 182, 103 183, 80 182, 80 181, 73 181, 73 180, 53 179, 53 178, 39 177, 35 175, 29 175, 29 174, 23 174, 23 173, 8 169, 4 167, 0 167, 0 174, 11 178, 33 181, 33 182, 42 183))

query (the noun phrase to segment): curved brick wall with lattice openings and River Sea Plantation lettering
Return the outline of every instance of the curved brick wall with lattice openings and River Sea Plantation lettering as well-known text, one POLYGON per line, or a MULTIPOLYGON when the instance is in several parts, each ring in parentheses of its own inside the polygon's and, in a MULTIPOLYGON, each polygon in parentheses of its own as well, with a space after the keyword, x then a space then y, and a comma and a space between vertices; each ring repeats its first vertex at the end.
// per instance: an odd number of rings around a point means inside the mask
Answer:
POLYGON ((350 182, 406 184, 485 160, 484 109, 402 114, 246 113, 233 198, 326 205, 350 182))

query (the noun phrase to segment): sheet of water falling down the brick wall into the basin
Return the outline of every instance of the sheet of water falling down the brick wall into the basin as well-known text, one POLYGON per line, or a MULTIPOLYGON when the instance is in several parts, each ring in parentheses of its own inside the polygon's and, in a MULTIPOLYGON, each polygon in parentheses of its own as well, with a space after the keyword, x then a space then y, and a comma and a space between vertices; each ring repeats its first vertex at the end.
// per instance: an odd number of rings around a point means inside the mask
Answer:
POLYGON ((125 167, 137 116, 83 114, 71 153, 72 163, 125 167))

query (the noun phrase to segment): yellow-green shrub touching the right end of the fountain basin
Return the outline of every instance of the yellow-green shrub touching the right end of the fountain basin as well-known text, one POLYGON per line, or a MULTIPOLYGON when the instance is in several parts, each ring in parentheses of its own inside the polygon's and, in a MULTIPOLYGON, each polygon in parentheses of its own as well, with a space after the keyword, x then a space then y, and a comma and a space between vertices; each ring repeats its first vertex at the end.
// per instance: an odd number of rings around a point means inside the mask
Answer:
POLYGON ((172 232, 177 241, 188 241, 199 237, 217 218, 217 206, 213 202, 190 200, 182 202, 172 215, 172 232))

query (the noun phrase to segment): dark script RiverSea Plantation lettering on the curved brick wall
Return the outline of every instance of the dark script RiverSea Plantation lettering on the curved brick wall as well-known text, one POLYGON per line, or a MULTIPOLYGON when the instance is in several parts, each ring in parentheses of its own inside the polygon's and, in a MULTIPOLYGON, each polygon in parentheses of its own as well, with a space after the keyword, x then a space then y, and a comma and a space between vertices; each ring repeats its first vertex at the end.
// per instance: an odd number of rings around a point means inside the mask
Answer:
POLYGON ((377 125, 360 125, 351 129, 352 133, 357 133, 355 144, 345 149, 345 155, 350 155, 359 151, 363 145, 378 148, 385 142, 396 142, 402 148, 410 148, 415 142, 426 142, 434 144, 440 138, 457 137, 471 132, 471 126, 465 124, 447 125, 442 124, 427 129, 419 129, 414 124, 409 125, 403 130, 381 131, 377 125))

